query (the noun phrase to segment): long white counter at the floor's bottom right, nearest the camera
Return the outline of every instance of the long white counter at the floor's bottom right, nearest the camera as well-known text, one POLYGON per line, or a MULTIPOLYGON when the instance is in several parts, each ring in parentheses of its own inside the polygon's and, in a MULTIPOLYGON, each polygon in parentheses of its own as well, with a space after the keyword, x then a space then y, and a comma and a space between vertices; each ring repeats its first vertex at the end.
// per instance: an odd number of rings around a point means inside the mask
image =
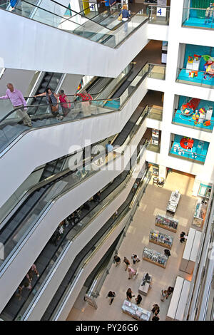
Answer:
POLYGON ((183 314, 185 310, 185 304, 188 300, 188 293, 190 289, 190 282, 181 277, 177 277, 172 298, 170 300, 170 306, 166 320, 173 321, 183 320, 183 314))

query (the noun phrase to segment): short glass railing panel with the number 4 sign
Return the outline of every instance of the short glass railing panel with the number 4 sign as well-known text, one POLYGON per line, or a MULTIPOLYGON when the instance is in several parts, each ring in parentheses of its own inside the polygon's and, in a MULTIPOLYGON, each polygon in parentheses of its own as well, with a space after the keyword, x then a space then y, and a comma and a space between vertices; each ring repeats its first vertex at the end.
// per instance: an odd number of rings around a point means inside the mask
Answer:
POLYGON ((146 13, 149 24, 169 25, 170 6, 148 5, 146 13))

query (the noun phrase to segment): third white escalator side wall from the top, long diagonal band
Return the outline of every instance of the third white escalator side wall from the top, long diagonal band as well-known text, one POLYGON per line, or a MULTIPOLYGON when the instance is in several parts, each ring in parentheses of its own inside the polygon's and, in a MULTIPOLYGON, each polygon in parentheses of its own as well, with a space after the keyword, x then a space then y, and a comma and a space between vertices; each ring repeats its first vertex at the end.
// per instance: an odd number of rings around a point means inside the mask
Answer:
MULTIPOLYGON (((131 145, 138 145, 145 130, 146 122, 144 120, 128 148, 124 150, 122 168, 116 170, 114 168, 114 161, 112 160, 108 164, 108 170, 106 170, 104 166, 104 168, 98 172, 93 173, 91 177, 86 177, 84 182, 80 182, 76 187, 66 192, 66 194, 58 197, 57 200, 55 199, 41 215, 34 227, 31 228, 19 245, 19 252, 14 252, 14 254, 11 255, 9 262, 6 263, 6 266, 0 272, 0 312, 4 309, 4 306, 6 306, 12 294, 14 294, 19 283, 31 267, 31 264, 34 263, 52 234, 54 234, 54 231, 58 227, 58 222, 68 217, 71 212, 83 205, 83 203, 96 194, 98 190, 101 190, 108 182, 111 182, 111 180, 121 174, 132 156, 130 150, 131 145)), ((120 166, 119 163, 121 163, 121 156, 115 160, 116 166, 120 166)), ((91 236, 93 236, 93 232, 91 232, 91 236)), ((81 243, 82 242, 80 242, 80 245, 81 243)))

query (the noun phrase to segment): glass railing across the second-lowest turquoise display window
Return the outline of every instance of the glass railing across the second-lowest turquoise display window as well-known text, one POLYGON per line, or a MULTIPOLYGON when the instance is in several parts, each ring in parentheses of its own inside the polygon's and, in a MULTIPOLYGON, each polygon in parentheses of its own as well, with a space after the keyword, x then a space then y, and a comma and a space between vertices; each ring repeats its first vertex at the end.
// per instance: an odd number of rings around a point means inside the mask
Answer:
POLYGON ((180 110, 174 111, 172 123, 175 125, 183 125, 183 127, 187 128, 200 129, 208 133, 213 133, 213 120, 207 120, 202 118, 198 118, 198 120, 193 120, 193 115, 185 115, 180 110), (208 125, 205 125, 205 123, 208 123, 208 125))

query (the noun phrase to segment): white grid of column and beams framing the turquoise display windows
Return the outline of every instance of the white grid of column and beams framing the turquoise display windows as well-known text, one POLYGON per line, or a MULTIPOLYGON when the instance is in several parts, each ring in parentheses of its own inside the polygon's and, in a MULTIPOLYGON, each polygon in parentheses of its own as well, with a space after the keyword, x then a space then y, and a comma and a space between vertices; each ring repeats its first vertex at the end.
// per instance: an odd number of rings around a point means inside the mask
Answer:
POLYGON ((177 66, 183 59, 183 46, 180 43, 190 43, 202 46, 214 46, 213 31, 203 29, 188 29, 181 28, 183 13, 183 0, 171 0, 170 4, 170 26, 168 33, 168 58, 166 66, 165 81, 161 84, 153 78, 147 79, 147 88, 156 91, 164 91, 163 101, 163 121, 147 120, 147 125, 150 128, 158 128, 162 130, 161 135, 161 152, 160 154, 153 153, 147 150, 146 160, 160 165, 174 168, 183 172, 197 175, 199 180, 213 180, 213 150, 214 137, 213 133, 186 128, 181 125, 173 125, 173 108, 175 95, 190 96, 193 98, 201 98, 203 100, 214 101, 214 90, 211 88, 203 88, 200 86, 186 85, 184 83, 176 83, 177 66), (181 58, 181 59, 180 59, 181 58), (205 165, 188 162, 180 158, 170 157, 168 155, 170 148, 170 134, 178 134, 198 138, 210 143, 208 155, 205 160, 205 165))

